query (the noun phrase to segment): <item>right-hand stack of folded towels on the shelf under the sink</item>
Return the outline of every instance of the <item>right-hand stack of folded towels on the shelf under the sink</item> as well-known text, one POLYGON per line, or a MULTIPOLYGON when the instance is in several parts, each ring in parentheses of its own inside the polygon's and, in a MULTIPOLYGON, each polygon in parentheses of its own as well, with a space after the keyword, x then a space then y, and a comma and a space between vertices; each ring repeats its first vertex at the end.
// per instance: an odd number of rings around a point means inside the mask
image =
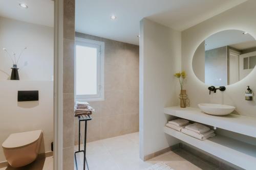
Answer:
POLYGON ((186 126, 184 129, 181 130, 181 132, 189 136, 198 138, 200 140, 205 140, 209 137, 215 136, 213 130, 210 130, 210 128, 198 123, 186 126))

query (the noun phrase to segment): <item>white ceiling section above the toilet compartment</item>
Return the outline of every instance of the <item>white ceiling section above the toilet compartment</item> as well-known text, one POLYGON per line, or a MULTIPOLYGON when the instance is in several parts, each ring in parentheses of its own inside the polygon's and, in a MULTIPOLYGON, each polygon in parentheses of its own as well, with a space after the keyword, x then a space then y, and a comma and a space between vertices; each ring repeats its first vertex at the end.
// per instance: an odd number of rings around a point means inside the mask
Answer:
POLYGON ((52 0, 0 0, 0 16, 53 27, 54 2, 52 0), (28 5, 28 8, 21 8, 19 3, 28 5))

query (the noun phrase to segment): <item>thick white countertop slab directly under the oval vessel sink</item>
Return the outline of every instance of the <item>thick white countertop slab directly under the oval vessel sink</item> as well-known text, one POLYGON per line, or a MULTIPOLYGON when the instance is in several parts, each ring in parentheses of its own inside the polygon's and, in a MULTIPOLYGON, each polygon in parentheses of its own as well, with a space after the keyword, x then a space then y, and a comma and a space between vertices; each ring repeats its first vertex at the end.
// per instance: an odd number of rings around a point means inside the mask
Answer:
POLYGON ((256 137, 256 117, 237 114, 214 116, 203 113, 199 108, 180 108, 180 106, 166 107, 164 108, 164 113, 243 135, 256 137))

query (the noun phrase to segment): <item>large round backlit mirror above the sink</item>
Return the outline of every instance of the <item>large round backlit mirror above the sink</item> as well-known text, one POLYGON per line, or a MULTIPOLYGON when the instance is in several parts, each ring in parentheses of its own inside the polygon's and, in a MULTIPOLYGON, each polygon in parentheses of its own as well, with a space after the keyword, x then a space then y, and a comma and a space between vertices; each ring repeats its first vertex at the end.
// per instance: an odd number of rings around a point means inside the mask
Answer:
POLYGON ((218 32, 198 46, 192 65, 197 78, 207 85, 239 82, 256 65, 256 41, 240 30, 218 32))

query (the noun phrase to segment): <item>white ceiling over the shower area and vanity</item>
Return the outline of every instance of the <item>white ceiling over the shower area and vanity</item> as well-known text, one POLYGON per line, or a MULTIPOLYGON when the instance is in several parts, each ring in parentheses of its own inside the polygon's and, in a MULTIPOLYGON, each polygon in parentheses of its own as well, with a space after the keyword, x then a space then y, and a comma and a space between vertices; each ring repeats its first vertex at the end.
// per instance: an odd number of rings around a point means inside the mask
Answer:
POLYGON ((139 44, 139 21, 144 17, 183 31, 245 1, 76 0, 76 31, 139 44))

